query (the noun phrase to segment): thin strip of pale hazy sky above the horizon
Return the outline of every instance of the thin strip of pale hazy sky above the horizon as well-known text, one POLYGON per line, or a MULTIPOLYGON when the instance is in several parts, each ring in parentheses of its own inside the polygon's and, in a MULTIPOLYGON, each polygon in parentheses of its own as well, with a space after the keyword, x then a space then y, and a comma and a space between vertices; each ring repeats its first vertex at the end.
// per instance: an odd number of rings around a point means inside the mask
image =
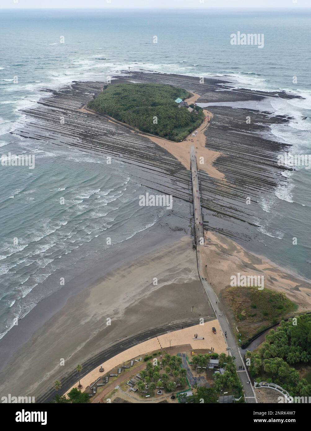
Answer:
POLYGON ((2 8, 302 8, 310 0, 0 0, 2 8), (16 3, 15 3, 16 2, 16 3))

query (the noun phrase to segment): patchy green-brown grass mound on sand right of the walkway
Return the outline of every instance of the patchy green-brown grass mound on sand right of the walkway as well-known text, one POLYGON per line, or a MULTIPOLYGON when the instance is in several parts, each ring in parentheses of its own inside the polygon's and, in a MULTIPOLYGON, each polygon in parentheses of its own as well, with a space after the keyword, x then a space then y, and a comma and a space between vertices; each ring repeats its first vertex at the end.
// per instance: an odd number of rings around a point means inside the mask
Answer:
POLYGON ((223 297, 232 310, 242 342, 297 309, 284 294, 257 287, 229 287, 223 297))

